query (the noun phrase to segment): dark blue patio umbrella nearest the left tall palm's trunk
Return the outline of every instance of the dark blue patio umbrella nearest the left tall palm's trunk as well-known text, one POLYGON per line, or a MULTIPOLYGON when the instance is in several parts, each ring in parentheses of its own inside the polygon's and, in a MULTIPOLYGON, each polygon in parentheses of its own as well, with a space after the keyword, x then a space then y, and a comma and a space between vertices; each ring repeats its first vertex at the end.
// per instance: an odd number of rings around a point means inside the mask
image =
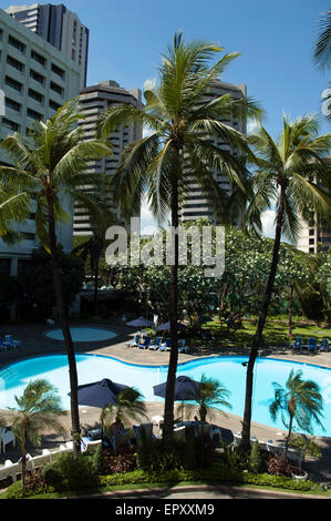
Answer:
MULTIPOLYGON (((126 389, 128 386, 122 384, 115 384, 107 378, 104 378, 100 381, 94 381, 92 384, 84 384, 79 386, 79 405, 80 406, 90 406, 90 407, 100 407, 103 409, 110 403, 117 403, 117 396, 123 389, 126 389)), ((70 396, 70 392, 69 392, 70 396)))

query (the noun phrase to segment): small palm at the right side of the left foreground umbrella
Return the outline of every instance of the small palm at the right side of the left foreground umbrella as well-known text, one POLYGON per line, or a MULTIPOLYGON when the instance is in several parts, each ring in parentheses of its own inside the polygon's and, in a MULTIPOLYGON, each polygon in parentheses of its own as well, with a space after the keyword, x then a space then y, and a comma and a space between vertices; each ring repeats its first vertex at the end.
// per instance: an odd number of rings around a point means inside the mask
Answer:
POLYGON ((142 398, 143 395, 134 387, 123 389, 117 396, 117 402, 110 403, 101 411, 103 431, 107 432, 114 419, 118 419, 123 425, 130 425, 131 420, 141 421, 142 418, 146 418, 146 405, 142 398))

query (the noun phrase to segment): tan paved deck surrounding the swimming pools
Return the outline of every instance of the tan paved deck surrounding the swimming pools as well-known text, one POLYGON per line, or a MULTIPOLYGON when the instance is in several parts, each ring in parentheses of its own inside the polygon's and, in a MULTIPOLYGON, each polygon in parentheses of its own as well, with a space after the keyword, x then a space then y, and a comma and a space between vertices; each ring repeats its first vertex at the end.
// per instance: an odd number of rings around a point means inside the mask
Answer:
MULTIPOLYGON (((169 353, 158 353, 148 349, 136 349, 125 347, 125 341, 130 340, 135 329, 118 324, 118 321, 108 321, 105 326, 104 323, 73 323, 72 327, 101 327, 108 328, 116 333, 116 337, 105 341, 99 343, 75 343, 76 353, 86 353, 90 355, 102 355, 117 358, 118 360, 137 364, 137 365, 149 365, 149 366, 166 366, 169 359, 169 353)), ((58 327, 58 326, 56 326, 58 327)), ((21 340, 22 346, 18 349, 10 350, 7 353, 0 353, 0 369, 3 366, 14 364, 18 360, 24 358, 31 358, 35 356, 45 356, 51 354, 63 354, 65 353, 63 341, 53 340, 48 338, 44 334, 46 331, 45 325, 18 325, 10 327, 1 327, 0 336, 4 334, 12 334, 13 338, 21 340)), ((178 364, 195 360, 201 357, 209 356, 248 356, 248 347, 225 347, 219 346, 214 349, 206 350, 192 350, 189 354, 179 354, 178 364)), ((288 347, 268 347, 260 351, 260 356, 270 357, 282 360, 291 360, 303 364, 312 364, 317 366, 331 368, 331 351, 330 353, 307 353, 302 350, 300 353, 293 353, 288 347)), ((244 406, 244 405, 242 405, 244 406)), ((155 415, 163 415, 163 403, 159 402, 147 402, 148 417, 152 418, 155 415)), ((93 407, 82 407, 80 409, 81 422, 83 426, 89 428, 95 427, 99 423, 100 410, 93 407)), ((68 430, 66 440, 70 439, 70 416, 64 418, 64 427, 68 430)), ((224 440, 231 440, 232 433, 237 433, 241 430, 241 418, 232 413, 226 412, 226 416, 216 409, 213 411, 213 423, 220 426, 223 431, 224 440)), ((260 423, 251 423, 251 436, 256 436, 259 440, 267 441, 268 439, 282 439, 286 430, 279 430, 272 427, 267 427, 260 423)), ((62 443, 63 437, 56 437, 54 435, 45 433, 43 436, 42 448, 54 449, 62 443)), ((308 460, 303 463, 303 468, 309 474, 319 482, 331 483, 331 438, 316 438, 316 441, 320 445, 322 450, 322 458, 318 461, 308 460)), ((40 453, 40 450, 35 450, 29 447, 31 456, 40 453)), ((4 460, 11 459, 17 461, 20 457, 18 448, 7 448, 6 453, 0 454, 0 464, 4 463, 4 460)))

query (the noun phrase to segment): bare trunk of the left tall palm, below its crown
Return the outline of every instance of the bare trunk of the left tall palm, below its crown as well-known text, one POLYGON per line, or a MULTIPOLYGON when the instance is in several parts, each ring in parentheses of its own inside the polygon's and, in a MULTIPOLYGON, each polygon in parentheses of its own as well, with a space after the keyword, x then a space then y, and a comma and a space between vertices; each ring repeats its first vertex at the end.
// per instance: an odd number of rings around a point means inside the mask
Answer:
POLYGON ((72 439, 73 439, 73 450, 77 454, 81 450, 80 441, 80 415, 79 415, 79 400, 77 400, 77 370, 76 361, 74 356, 74 346, 70 333, 68 314, 65 309, 65 303, 63 298, 63 287, 62 287, 62 277, 61 268, 58 259, 56 252, 56 232, 55 232, 55 217, 54 217, 54 206, 53 206, 53 196, 52 193, 48 194, 48 211, 49 211, 49 238, 50 238, 50 251, 51 251, 51 264, 53 272, 53 283, 54 290, 56 296, 56 305, 60 315, 60 324, 63 331, 64 345, 68 355, 69 362, 69 377, 70 377, 70 391, 71 391, 71 428, 72 428, 72 439))

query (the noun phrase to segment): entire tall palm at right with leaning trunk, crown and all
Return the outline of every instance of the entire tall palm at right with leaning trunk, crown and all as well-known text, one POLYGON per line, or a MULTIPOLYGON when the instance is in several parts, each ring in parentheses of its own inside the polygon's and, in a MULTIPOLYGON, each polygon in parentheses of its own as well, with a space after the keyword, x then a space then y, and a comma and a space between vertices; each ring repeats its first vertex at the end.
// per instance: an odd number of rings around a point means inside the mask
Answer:
POLYGON ((293 123, 283 116, 283 129, 278 141, 273 141, 262 125, 248 141, 255 152, 255 196, 246 218, 256 229, 261 229, 260 215, 276 202, 276 232, 270 265, 257 330, 250 349, 240 448, 250 448, 250 420, 254 367, 273 292, 282 234, 291 242, 300 231, 299 214, 311 218, 313 212, 330 219, 331 188, 330 166, 323 161, 331 144, 331 134, 318 135, 314 116, 298 118, 293 123))

